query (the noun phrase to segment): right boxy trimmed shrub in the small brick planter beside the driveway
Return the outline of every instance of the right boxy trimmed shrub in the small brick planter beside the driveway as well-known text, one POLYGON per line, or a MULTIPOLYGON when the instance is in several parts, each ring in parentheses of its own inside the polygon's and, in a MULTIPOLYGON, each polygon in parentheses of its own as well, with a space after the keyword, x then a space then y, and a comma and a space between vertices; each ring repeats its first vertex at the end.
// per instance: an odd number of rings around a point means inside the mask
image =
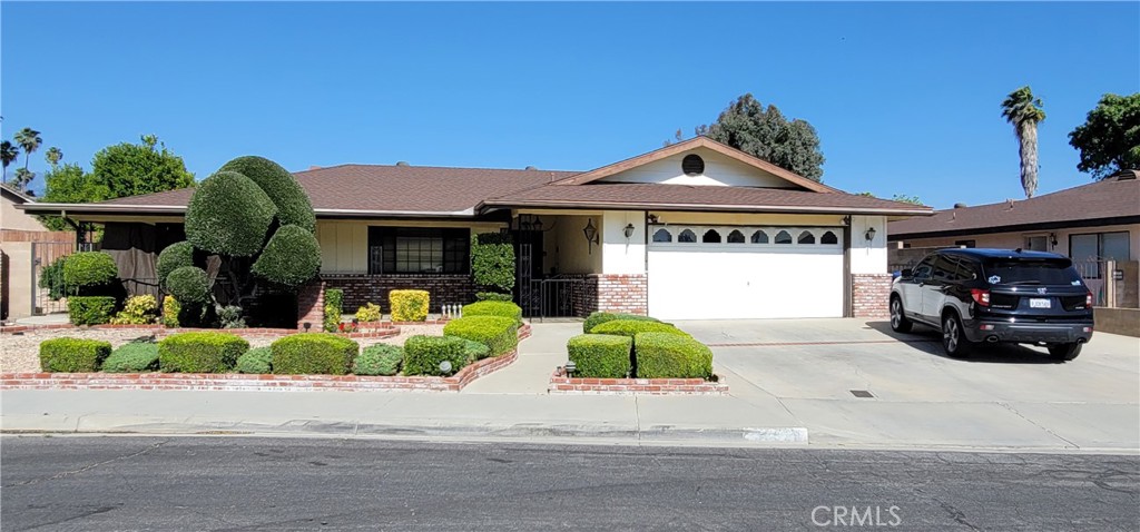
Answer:
POLYGON ((641 333, 634 358, 638 378, 712 378, 712 351, 690 337, 641 333))

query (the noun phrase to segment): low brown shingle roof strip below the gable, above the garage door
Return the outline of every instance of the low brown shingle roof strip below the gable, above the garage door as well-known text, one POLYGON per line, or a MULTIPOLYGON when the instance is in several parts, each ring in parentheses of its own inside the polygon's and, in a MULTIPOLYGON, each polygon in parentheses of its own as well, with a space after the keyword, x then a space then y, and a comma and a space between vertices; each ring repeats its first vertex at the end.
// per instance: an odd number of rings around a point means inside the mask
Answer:
POLYGON ((546 185, 484 202, 487 206, 653 208, 662 211, 852 212, 926 214, 930 207, 846 193, 660 183, 546 185))

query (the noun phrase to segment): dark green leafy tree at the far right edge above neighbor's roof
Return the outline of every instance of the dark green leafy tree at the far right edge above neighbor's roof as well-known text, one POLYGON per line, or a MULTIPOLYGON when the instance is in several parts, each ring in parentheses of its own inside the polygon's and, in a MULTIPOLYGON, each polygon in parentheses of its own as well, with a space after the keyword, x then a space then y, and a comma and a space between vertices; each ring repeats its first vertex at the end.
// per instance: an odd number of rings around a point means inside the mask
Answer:
POLYGON ((1081 152, 1076 169, 1092 179, 1140 167, 1140 92, 1100 97, 1084 124, 1069 133, 1069 145, 1081 152))

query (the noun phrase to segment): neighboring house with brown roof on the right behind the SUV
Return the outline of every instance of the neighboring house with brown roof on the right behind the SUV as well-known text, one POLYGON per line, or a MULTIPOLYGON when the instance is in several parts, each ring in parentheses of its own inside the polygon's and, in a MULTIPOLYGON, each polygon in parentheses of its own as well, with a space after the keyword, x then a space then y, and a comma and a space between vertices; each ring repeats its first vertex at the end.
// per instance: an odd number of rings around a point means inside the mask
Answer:
POLYGON ((905 267, 925 249, 947 246, 1048 251, 1068 255, 1104 303, 1105 261, 1115 261, 1121 305, 1135 306, 1140 284, 1140 172, 1031 199, 936 211, 888 224, 890 263, 905 267))

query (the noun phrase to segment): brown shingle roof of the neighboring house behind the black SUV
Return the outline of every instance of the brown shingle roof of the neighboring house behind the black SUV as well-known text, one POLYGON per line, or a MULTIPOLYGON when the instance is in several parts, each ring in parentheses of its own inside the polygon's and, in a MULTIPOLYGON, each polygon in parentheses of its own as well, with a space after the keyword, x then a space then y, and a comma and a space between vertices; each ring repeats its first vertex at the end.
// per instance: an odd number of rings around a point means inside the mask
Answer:
POLYGON ((890 239, 1024 230, 1033 226, 1140 218, 1140 180, 1110 178, 1016 202, 936 211, 890 222, 890 239))

